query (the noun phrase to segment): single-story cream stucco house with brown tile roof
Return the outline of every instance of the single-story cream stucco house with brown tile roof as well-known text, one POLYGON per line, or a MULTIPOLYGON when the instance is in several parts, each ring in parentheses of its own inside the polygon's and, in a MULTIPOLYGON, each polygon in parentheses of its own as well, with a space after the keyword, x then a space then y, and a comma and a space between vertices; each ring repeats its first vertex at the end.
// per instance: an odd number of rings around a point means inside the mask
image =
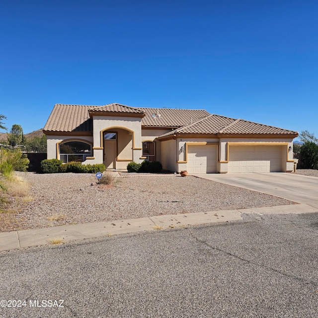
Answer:
POLYGON ((130 161, 158 160, 189 173, 293 170, 298 132, 202 109, 56 104, 43 129, 47 158, 104 163, 125 170, 130 161))

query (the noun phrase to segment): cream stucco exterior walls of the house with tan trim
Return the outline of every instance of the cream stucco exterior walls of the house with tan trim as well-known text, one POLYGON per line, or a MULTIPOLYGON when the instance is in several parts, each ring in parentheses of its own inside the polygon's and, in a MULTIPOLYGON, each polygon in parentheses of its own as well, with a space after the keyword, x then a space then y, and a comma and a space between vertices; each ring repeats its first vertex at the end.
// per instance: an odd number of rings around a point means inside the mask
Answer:
MULTIPOLYGON (((87 141, 93 145, 92 157, 86 159, 83 164, 102 163, 104 157, 102 132, 117 133, 117 160, 116 169, 126 169, 128 162, 142 162, 142 142, 154 141, 156 143, 156 160, 162 163, 164 169, 181 171, 187 169, 185 157, 185 145, 187 142, 217 142, 218 147, 218 172, 228 172, 228 143, 264 143, 270 146, 277 143, 281 145, 281 167, 282 171, 292 171, 293 164, 293 139, 285 138, 181 138, 165 141, 156 140, 158 136, 169 132, 167 129, 142 129, 141 118, 138 117, 116 117, 116 116, 94 116, 93 136, 47 136, 47 158, 59 157, 57 144, 65 141, 87 141), (291 148, 289 148, 291 147, 291 148)), ((247 144, 246 144, 247 145, 247 144)), ((231 148, 230 148, 231 149, 231 148)), ((59 159, 59 158, 58 158, 59 159)))

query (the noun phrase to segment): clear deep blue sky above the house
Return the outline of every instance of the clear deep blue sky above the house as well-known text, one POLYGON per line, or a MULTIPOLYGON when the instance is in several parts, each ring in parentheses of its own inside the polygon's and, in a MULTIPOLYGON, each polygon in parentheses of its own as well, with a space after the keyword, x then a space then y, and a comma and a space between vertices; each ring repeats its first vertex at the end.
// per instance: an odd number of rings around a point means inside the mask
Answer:
MULTIPOLYGON (((318 137, 318 1, 0 0, 0 114, 206 109, 318 137)), ((3 131, 1 131, 3 132, 3 131)))

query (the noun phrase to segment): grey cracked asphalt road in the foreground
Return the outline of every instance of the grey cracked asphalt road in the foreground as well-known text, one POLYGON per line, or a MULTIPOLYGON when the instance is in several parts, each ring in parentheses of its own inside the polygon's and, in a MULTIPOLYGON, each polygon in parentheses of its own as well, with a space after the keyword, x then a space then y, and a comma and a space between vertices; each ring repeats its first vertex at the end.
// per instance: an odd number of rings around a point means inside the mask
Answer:
POLYGON ((318 317, 317 213, 12 250, 0 264, 0 300, 26 300, 1 318, 318 317))

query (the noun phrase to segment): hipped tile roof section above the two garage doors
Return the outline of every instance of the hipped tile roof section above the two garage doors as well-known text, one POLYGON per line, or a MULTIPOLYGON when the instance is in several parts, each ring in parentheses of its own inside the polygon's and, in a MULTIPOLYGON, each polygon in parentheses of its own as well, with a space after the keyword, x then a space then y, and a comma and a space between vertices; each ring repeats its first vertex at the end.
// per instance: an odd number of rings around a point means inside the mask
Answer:
POLYGON ((244 134, 244 135, 298 135, 298 132, 283 128, 254 123, 243 119, 211 114, 195 123, 177 128, 160 137, 174 134, 244 134))

